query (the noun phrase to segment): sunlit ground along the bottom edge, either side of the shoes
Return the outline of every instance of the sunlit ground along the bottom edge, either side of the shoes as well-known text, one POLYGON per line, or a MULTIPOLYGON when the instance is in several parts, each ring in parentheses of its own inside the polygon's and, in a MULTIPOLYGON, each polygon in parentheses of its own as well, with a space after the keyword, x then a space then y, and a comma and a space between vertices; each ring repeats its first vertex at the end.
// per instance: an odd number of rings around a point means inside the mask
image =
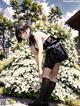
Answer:
MULTIPOLYGON (((9 96, 0 96, 0 106, 28 106, 29 102, 32 102, 32 100, 20 99, 9 96)), ((50 102, 49 106, 67 106, 67 105, 50 102)))

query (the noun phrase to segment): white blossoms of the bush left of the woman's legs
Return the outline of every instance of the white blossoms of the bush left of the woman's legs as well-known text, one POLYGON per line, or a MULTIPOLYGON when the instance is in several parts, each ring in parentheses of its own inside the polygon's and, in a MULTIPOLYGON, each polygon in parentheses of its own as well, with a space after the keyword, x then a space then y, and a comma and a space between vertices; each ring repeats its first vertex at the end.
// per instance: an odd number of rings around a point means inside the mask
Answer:
POLYGON ((39 87, 38 67, 31 55, 31 50, 25 45, 21 47, 20 50, 16 50, 14 56, 16 59, 11 66, 9 66, 10 68, 7 67, 6 70, 3 70, 0 74, 0 81, 6 84, 6 88, 13 85, 13 88, 16 88, 15 92, 27 92, 31 86, 36 92, 39 87))

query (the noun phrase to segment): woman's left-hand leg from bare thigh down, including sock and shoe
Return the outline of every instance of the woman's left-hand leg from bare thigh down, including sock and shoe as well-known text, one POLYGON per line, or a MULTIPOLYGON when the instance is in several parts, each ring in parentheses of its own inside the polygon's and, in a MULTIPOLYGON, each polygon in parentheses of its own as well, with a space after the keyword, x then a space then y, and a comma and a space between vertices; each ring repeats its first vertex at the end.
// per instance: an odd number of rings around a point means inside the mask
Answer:
POLYGON ((29 106, 48 106, 48 100, 46 100, 46 94, 48 92, 48 89, 50 87, 50 74, 51 69, 44 67, 43 68, 43 77, 42 77, 42 83, 40 87, 40 93, 39 97, 33 102, 29 103, 29 106))

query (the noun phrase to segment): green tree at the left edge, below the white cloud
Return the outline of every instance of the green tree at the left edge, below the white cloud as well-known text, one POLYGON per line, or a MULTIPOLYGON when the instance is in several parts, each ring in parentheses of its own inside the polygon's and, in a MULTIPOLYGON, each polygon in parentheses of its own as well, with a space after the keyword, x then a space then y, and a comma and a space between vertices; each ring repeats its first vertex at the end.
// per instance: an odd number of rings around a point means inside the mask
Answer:
MULTIPOLYGON (((13 23, 0 13, 0 46, 2 45, 3 54, 5 55, 5 46, 12 36, 13 23)), ((9 44, 9 43, 8 43, 9 44)))

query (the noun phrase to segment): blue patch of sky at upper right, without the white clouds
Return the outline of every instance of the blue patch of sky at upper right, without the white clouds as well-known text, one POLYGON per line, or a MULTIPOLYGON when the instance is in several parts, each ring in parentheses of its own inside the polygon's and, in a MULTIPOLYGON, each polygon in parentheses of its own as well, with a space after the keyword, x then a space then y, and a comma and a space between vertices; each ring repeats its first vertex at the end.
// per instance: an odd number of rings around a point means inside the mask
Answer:
POLYGON ((63 15, 66 15, 67 12, 73 12, 75 10, 80 9, 80 0, 77 2, 77 0, 73 0, 73 2, 70 2, 71 0, 46 0, 49 5, 57 5, 61 8, 63 15), (75 2, 76 1, 76 2, 75 2))

